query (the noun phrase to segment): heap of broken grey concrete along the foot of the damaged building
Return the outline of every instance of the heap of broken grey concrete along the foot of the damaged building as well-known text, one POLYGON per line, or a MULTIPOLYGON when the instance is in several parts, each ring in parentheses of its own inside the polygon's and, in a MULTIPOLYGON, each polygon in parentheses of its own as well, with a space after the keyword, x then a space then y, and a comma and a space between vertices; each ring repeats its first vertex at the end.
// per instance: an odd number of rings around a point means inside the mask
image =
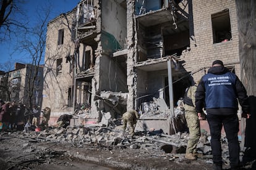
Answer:
MULTIPOLYGON (((110 118, 109 115, 108 118, 110 118)), ((186 153, 186 145, 189 138, 189 134, 186 132, 168 135, 161 131, 137 131, 134 137, 130 137, 126 132, 122 131, 122 126, 109 123, 106 123, 105 127, 102 127, 101 124, 91 124, 88 127, 67 126, 66 129, 55 128, 50 129, 48 132, 41 131, 33 135, 36 139, 72 144, 79 148, 83 148, 85 145, 98 145, 107 148, 130 148, 176 154, 171 160, 179 159, 181 155, 186 153)), ((207 134, 202 134, 197 150, 198 154, 202 155, 202 157, 204 156, 205 161, 211 162, 210 142, 205 140, 207 137, 207 134)), ((222 140, 223 144, 226 144, 224 137, 222 140)), ((27 146, 27 144, 23 145, 27 146)), ((26 152, 29 151, 30 149, 26 150, 26 152)), ((223 153, 224 161, 228 163, 228 147, 224 147, 223 153)))

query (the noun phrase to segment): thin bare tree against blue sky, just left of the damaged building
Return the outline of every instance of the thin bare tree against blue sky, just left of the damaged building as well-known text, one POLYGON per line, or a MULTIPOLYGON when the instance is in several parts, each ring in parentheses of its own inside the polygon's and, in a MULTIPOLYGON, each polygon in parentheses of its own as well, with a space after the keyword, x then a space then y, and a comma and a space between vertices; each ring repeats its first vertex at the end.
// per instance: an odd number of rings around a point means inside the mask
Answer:
MULTIPOLYGON (((35 104, 37 95, 41 99, 41 91, 43 88, 43 63, 45 55, 46 45, 46 28, 49 20, 49 9, 38 10, 37 23, 33 28, 30 28, 27 32, 23 33, 23 38, 20 41, 19 51, 23 52, 30 59, 30 63, 27 64, 25 90, 25 99, 30 108, 35 104), (40 74, 39 74, 40 73, 40 74), (40 83, 38 81, 40 80, 40 83), (40 94, 37 94, 37 92, 40 94)), ((37 102, 36 102, 37 103, 37 102)), ((41 100, 39 102, 41 104, 41 100)))

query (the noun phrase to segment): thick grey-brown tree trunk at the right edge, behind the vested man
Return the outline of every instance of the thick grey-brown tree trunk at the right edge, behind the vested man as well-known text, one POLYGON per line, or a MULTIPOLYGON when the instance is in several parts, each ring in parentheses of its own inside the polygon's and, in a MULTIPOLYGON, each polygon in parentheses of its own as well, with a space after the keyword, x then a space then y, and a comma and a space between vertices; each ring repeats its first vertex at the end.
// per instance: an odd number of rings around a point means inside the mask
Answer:
POLYGON ((256 96, 256 2, 236 0, 241 77, 248 95, 256 96))

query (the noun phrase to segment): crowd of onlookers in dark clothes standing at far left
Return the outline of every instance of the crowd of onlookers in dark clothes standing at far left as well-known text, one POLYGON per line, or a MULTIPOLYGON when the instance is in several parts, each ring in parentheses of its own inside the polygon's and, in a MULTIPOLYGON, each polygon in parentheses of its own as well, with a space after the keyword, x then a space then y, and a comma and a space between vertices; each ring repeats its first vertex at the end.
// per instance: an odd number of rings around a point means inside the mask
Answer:
POLYGON ((40 109, 36 105, 30 110, 23 103, 0 100, 0 131, 23 131, 26 123, 39 126, 40 109))

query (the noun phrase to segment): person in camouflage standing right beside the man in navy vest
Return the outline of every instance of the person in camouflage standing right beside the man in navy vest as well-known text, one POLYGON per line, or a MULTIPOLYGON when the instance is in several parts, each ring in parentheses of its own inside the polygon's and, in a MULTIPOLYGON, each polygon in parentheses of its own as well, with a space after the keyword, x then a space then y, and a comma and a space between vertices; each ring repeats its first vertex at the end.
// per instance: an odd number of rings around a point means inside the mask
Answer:
POLYGON ((185 110, 185 118, 187 127, 189 127, 189 140, 187 142, 187 149, 185 158, 188 160, 196 160, 197 142, 200 139, 200 123, 195 110, 195 91, 197 91, 197 84, 190 86, 186 90, 183 102, 185 110))

